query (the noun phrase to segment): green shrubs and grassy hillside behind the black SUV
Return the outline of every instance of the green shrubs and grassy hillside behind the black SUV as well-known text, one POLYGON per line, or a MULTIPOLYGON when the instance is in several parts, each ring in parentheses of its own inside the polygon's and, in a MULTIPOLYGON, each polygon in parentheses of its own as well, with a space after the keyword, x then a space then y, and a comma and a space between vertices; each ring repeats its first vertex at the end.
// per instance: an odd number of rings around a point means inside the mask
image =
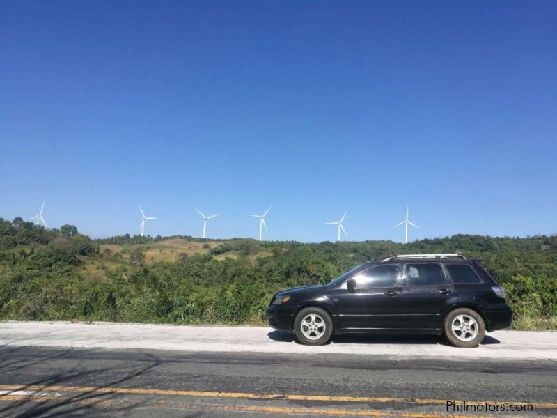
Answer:
POLYGON ((556 329, 556 236, 455 235, 408 245, 91 240, 71 225, 44 229, 21 218, 0 218, 0 319, 255 324, 276 291, 327 283, 364 261, 421 252, 483 258, 508 293, 515 327, 556 329))

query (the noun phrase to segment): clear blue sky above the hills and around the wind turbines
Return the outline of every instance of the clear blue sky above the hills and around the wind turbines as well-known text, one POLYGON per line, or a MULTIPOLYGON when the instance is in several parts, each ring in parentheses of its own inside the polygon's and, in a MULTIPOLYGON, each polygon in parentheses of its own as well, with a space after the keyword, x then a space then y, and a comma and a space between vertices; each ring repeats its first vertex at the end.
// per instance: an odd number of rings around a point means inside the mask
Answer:
POLYGON ((102 237, 557 231, 554 1, 3 1, 0 217, 102 237))

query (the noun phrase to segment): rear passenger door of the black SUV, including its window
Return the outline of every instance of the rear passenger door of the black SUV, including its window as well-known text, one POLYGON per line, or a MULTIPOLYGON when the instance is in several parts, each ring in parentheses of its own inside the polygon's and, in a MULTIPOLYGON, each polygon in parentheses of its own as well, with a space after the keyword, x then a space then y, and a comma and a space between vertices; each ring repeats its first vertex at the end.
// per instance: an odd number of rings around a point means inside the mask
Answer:
POLYGON ((405 263, 399 313, 402 327, 441 330, 446 306, 454 295, 441 263, 405 263))

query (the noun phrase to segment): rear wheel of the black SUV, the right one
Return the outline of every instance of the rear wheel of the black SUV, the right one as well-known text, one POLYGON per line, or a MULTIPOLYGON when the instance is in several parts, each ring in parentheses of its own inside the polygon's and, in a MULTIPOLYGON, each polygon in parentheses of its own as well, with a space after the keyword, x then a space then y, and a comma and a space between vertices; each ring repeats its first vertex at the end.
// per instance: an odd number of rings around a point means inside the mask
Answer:
POLYGON ((446 339, 453 346, 477 347, 485 336, 485 323, 478 312, 469 308, 457 308, 445 317, 443 330, 446 339))

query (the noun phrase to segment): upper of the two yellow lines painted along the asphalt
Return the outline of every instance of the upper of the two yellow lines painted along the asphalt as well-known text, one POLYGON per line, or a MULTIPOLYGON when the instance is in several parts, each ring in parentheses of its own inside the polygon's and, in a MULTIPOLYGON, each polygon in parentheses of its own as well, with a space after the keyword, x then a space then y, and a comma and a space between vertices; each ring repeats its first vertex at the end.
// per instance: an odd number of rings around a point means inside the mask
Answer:
MULTIPOLYGON (((97 392, 110 394, 144 394, 168 396, 198 396, 205 398, 246 398, 271 399, 286 401, 335 401, 335 402, 366 402, 366 403, 418 403, 427 405, 446 405, 447 401, 463 401, 463 399, 430 399, 430 398, 378 398, 372 396, 326 396, 326 395, 296 395, 296 394, 255 394, 241 392, 203 392, 171 389, 143 389, 128 387, 87 387, 87 386, 56 386, 56 385, 0 385, 0 389, 8 390, 45 390, 60 392, 97 392)), ((530 403, 523 401, 468 401, 468 405, 484 405, 496 403, 499 405, 532 405, 533 408, 557 409, 557 403, 530 403)))

